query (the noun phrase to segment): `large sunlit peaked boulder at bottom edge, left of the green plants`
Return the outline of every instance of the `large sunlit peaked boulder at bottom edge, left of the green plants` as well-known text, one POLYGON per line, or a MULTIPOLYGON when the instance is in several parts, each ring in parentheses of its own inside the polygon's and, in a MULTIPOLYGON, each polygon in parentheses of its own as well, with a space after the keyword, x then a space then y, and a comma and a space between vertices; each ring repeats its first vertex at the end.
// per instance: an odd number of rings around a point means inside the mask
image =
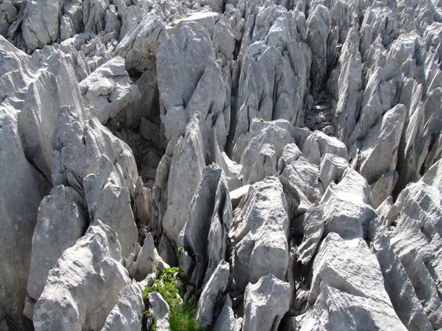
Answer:
POLYGON ((35 304, 35 330, 100 330, 130 284, 117 234, 95 221, 61 255, 35 304))

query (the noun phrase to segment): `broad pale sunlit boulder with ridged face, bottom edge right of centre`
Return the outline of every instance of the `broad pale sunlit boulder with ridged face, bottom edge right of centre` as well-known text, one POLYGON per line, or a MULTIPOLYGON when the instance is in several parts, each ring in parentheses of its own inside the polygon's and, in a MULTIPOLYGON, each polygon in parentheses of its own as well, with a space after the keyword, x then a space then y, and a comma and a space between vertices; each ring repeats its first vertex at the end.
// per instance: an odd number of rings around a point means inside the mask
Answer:
POLYGON ((314 259, 309 305, 313 307, 300 330, 338 325, 346 330, 367 325, 373 330, 407 330, 385 291, 378 261, 363 239, 327 235, 314 259))

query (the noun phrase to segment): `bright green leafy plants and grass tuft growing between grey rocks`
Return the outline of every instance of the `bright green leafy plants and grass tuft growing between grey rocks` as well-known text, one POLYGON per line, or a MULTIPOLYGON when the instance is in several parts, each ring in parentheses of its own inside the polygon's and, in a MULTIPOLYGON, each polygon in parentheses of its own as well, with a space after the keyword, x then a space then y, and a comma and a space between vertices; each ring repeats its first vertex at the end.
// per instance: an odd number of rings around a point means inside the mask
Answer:
POLYGON ((166 268, 157 273, 157 278, 151 287, 145 288, 143 291, 143 300, 145 305, 143 331, 155 331, 155 321, 146 330, 146 319, 150 317, 148 309, 150 304, 148 302, 148 294, 151 292, 158 292, 163 297, 164 301, 169 305, 169 323, 172 331, 200 331, 198 323, 196 322, 197 308, 195 303, 182 301, 180 299, 180 289, 178 288, 176 277, 180 277, 182 270, 180 268, 166 268))

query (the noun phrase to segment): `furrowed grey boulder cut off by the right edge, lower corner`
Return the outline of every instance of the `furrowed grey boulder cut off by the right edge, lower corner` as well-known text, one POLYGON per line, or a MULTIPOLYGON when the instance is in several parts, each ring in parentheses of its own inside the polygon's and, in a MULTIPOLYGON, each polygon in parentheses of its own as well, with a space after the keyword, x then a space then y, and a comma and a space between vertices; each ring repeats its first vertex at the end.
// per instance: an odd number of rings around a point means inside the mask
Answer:
POLYGON ((442 275, 441 194, 425 183, 410 183, 395 203, 400 212, 392 248, 421 301, 433 328, 441 325, 442 301, 437 294, 442 275))

